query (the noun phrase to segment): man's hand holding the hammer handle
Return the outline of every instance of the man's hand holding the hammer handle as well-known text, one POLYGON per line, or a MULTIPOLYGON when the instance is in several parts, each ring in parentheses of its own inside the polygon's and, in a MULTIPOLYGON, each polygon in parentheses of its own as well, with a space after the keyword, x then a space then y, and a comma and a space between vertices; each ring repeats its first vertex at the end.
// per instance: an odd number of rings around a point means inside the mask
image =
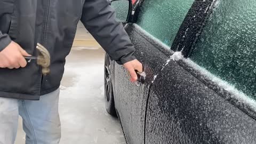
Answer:
POLYGON ((20 68, 26 67, 27 61, 23 56, 30 56, 19 44, 11 42, 0 52, 0 68, 20 68))

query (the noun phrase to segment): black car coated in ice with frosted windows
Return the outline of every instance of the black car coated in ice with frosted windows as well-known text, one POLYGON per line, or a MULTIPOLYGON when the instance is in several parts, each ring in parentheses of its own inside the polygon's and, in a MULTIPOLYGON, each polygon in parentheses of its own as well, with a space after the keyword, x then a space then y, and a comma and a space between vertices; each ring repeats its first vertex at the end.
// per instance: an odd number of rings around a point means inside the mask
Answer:
POLYGON ((105 57, 127 143, 256 143, 256 1, 112 1, 144 74, 105 57), (146 75, 146 76, 145 76, 146 75))

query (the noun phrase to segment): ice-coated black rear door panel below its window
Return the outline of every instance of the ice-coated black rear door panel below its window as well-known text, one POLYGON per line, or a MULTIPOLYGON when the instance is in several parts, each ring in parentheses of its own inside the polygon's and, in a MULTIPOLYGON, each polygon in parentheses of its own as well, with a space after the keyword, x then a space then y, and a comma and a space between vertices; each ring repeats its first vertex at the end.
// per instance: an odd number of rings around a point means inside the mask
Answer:
POLYGON ((146 143, 256 143, 255 119, 171 61, 150 89, 146 143))

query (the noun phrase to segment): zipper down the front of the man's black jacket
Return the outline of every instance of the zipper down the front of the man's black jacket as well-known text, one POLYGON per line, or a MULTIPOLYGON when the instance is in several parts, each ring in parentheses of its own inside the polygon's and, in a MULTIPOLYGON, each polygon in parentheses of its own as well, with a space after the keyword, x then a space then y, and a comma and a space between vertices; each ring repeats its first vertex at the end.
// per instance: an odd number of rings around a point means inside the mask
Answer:
MULTIPOLYGON (((47 13, 46 13, 46 20, 45 20, 45 25, 44 25, 44 33, 43 33, 43 44, 46 46, 46 33, 47 33, 47 27, 48 27, 48 21, 49 21, 49 15, 50 15, 50 6, 51 6, 51 0, 47 1, 47 13)), ((40 89, 39 89, 39 94, 41 95, 41 87, 43 84, 43 74, 42 74, 42 68, 40 69, 41 71, 41 77, 40 77, 40 89)))

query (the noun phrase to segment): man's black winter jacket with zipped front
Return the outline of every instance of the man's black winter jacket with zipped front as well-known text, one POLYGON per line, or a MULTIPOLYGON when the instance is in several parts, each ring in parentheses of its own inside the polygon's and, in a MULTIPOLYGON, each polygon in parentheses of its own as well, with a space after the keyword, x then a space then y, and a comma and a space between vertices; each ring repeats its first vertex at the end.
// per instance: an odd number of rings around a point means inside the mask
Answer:
POLYGON ((78 21, 119 64, 135 59, 134 47, 108 0, 0 0, 0 51, 11 41, 29 54, 36 43, 51 54, 51 73, 43 76, 36 61, 26 68, 0 68, 0 97, 38 100, 57 90, 78 21))

